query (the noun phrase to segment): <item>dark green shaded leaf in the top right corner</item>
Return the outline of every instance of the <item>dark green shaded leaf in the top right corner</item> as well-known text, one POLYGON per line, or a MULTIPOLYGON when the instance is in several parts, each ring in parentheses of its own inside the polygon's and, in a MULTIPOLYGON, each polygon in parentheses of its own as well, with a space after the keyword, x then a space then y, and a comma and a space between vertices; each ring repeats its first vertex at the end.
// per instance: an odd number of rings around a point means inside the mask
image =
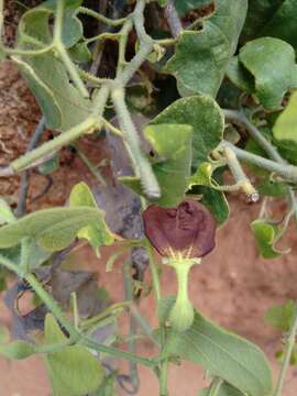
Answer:
MULTIPOLYGON (((274 0, 274 2, 276 2, 274 0)), ((278 0, 278 3, 280 1, 278 0)), ((297 50, 297 2, 296 0, 283 0, 271 20, 261 29, 261 35, 278 37, 297 50)), ((262 25, 263 26, 263 25, 262 25)))

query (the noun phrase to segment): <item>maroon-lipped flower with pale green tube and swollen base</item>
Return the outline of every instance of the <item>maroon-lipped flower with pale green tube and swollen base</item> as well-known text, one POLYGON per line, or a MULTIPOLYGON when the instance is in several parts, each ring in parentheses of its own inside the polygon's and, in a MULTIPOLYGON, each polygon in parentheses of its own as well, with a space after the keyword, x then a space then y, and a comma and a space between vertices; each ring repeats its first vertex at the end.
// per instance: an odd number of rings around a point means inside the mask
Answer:
POLYGON ((169 322, 176 331, 186 331, 194 321, 188 274, 215 248, 216 220, 204 205, 186 199, 177 208, 150 206, 143 221, 147 239, 176 272, 178 292, 169 322))

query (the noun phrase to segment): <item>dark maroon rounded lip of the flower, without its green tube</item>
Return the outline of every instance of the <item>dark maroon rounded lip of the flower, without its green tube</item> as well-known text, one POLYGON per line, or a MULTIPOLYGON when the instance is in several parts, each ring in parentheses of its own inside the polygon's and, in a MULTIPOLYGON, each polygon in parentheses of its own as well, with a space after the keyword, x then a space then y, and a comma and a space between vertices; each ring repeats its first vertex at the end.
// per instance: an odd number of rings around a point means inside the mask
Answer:
POLYGON ((151 205, 143 221, 145 235, 162 256, 202 257, 216 245, 216 220, 194 199, 185 199, 176 208, 151 205))

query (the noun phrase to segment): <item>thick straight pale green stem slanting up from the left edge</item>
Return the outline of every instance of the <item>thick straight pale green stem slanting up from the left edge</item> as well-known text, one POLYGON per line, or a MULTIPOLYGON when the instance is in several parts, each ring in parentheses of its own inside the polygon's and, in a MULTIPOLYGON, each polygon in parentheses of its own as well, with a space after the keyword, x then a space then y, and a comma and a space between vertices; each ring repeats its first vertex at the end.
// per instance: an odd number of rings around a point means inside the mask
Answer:
POLYGON ((89 133, 90 130, 95 130, 98 127, 98 119, 95 117, 89 117, 86 121, 72 128, 70 130, 61 133, 55 139, 42 144, 40 147, 34 151, 22 155, 11 163, 12 169, 18 173, 21 172, 36 161, 43 158, 44 156, 57 151, 64 145, 74 142, 78 138, 80 138, 84 133, 89 133))

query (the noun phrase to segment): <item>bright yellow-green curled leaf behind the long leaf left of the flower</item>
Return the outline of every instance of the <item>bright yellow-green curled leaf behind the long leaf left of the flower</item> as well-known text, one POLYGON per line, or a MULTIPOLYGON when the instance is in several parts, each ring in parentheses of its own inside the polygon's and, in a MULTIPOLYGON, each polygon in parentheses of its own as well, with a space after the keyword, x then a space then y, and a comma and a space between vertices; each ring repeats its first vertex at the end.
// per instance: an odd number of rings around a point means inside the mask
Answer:
POLYGON ((100 217, 96 217, 87 227, 78 231, 78 238, 85 238, 89 241, 94 250, 99 255, 99 248, 110 245, 114 242, 114 234, 109 230, 105 222, 105 212, 97 207, 96 200, 86 183, 77 184, 70 194, 70 207, 95 208, 100 217))

